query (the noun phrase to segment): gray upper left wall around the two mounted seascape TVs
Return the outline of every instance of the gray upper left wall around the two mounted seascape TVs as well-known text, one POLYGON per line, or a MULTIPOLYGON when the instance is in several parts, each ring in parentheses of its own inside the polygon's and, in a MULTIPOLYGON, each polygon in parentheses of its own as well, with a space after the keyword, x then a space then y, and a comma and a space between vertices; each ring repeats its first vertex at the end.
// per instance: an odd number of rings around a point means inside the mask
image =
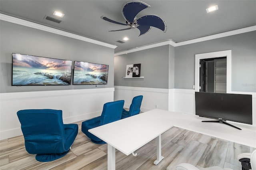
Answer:
MULTIPOLYGON (((114 87, 114 49, 0 21, 0 93, 114 87), (12 53, 109 65, 107 85, 11 86, 12 53)), ((74 64, 74 63, 73 63, 74 64)))

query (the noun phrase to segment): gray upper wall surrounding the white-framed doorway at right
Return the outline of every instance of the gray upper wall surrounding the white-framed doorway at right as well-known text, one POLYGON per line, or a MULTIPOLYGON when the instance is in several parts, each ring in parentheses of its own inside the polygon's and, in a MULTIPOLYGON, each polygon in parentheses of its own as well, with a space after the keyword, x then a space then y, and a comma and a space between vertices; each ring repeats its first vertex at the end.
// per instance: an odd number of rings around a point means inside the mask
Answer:
POLYGON ((256 92, 256 31, 175 47, 176 89, 192 89, 195 55, 232 50, 231 90, 256 92))

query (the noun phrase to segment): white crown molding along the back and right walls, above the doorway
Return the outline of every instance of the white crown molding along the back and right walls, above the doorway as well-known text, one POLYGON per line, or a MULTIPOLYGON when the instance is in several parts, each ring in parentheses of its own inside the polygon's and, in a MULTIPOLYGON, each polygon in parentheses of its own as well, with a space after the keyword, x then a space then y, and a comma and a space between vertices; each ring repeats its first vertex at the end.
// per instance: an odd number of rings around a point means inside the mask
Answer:
POLYGON ((182 46, 182 45, 187 45, 187 44, 192 44, 192 43, 198 43, 198 42, 204 42, 204 41, 207 41, 207 40, 213 40, 213 39, 216 39, 216 38, 222 38, 222 37, 227 37, 227 36, 233 36, 233 35, 236 35, 236 34, 242 34, 242 33, 251 32, 251 31, 256 31, 256 26, 250 26, 250 27, 246 27, 246 28, 240 28, 240 29, 237 29, 237 30, 232 30, 232 31, 228 31, 228 32, 223 32, 223 33, 214 34, 214 35, 211 35, 211 36, 205 36, 205 37, 201 37, 201 38, 195 38, 195 39, 192 39, 192 40, 187 40, 187 41, 178 42, 178 43, 175 43, 175 42, 172 41, 172 40, 167 40, 167 41, 160 42, 160 43, 154 43, 154 44, 144 45, 144 46, 142 46, 142 47, 137 47, 137 48, 135 48, 135 49, 128 49, 128 50, 126 50, 126 51, 116 52, 116 53, 114 54, 114 56, 116 56, 116 55, 122 55, 122 54, 127 54, 127 53, 132 53, 132 52, 140 51, 140 50, 144 50, 144 49, 149 49, 149 48, 152 48, 152 47, 159 47, 159 46, 162 46, 162 45, 167 45, 166 43, 168 43, 169 45, 172 45, 173 47, 178 47, 178 46, 182 46))

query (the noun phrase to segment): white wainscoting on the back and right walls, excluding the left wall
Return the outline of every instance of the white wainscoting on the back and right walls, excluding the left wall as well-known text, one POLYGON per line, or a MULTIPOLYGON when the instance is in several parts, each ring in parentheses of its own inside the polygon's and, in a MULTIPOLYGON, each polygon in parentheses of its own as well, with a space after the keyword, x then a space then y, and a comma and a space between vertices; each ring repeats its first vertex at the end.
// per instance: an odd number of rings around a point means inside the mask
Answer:
MULTIPOLYGON (((124 107, 129 108, 132 98, 143 95, 142 112, 158 109, 195 114, 195 90, 194 89, 157 89, 144 87, 114 86, 114 101, 124 100, 124 107)), ((256 126, 256 93, 231 91, 234 94, 252 95, 252 124, 256 126)))

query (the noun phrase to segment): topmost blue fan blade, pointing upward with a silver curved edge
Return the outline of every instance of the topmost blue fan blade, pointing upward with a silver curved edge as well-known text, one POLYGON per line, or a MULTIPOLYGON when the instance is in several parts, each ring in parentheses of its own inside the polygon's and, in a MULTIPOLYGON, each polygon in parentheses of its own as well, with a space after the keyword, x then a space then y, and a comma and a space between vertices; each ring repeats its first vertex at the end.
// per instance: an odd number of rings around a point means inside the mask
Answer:
POLYGON ((145 8, 150 8, 150 5, 141 1, 132 1, 122 7, 122 15, 127 22, 131 23, 135 16, 145 8))

